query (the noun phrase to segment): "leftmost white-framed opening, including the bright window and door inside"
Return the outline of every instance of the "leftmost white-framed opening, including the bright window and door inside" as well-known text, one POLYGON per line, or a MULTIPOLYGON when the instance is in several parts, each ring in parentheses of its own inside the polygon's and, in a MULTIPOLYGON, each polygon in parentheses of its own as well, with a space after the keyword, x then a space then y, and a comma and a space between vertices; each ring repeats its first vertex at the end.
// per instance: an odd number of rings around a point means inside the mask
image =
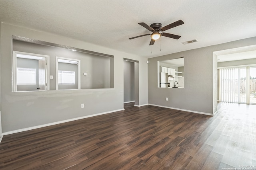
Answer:
POLYGON ((49 56, 13 52, 13 91, 49 90, 49 56))

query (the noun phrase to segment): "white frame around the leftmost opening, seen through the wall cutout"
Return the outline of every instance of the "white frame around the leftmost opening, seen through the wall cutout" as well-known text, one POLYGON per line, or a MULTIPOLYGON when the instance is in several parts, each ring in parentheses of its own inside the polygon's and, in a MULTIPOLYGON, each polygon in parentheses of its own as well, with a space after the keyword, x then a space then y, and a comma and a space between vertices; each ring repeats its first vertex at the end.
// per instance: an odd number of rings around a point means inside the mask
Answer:
MULTIPOLYGON (((42 54, 34 54, 34 53, 26 53, 21 51, 13 51, 12 53, 12 92, 28 92, 28 91, 17 91, 17 55, 30 55, 30 56, 36 56, 36 57, 44 57, 46 59, 46 79, 45 82, 47 84, 46 90, 50 90, 50 64, 49 64, 49 55, 42 55, 42 54)), ((19 58, 19 57, 18 57, 19 58)), ((41 90, 41 91, 46 91, 41 90)), ((38 90, 33 90, 37 92, 38 90)))

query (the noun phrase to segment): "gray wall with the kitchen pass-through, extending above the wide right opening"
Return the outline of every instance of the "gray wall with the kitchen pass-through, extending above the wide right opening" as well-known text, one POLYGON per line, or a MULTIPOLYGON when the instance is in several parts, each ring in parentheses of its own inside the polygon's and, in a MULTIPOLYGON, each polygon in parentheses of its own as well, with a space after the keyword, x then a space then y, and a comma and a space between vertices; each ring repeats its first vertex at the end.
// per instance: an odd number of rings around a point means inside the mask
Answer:
POLYGON ((213 52, 255 42, 252 37, 148 59, 148 103, 213 115, 217 111, 217 57, 213 52), (184 88, 157 88, 157 62, 180 57, 184 57, 184 88))

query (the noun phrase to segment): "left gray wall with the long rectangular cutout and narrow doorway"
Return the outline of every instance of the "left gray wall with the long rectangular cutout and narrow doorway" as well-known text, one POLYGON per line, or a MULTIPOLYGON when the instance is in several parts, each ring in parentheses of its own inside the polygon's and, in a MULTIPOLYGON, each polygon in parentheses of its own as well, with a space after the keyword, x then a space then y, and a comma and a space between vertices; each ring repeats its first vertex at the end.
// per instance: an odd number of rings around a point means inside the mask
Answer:
POLYGON ((139 105, 148 102, 147 59, 83 41, 1 23, 2 131, 123 109, 123 58, 139 61, 139 105), (12 92, 12 35, 114 56, 114 88, 12 92), (85 108, 81 109, 81 103, 85 108))

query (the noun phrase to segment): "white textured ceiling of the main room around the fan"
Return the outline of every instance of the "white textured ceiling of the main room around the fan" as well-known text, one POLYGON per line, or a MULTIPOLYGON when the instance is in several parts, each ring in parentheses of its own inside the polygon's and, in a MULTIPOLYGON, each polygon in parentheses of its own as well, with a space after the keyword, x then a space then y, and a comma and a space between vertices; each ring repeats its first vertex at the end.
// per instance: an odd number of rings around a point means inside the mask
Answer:
POLYGON ((1 22, 147 58, 255 37, 255 16, 255 0, 0 0, 1 22), (177 20, 184 24, 164 32, 178 40, 161 37, 149 46, 149 35, 128 39, 151 33, 139 22, 177 20), (192 39, 198 42, 182 44, 192 39))

